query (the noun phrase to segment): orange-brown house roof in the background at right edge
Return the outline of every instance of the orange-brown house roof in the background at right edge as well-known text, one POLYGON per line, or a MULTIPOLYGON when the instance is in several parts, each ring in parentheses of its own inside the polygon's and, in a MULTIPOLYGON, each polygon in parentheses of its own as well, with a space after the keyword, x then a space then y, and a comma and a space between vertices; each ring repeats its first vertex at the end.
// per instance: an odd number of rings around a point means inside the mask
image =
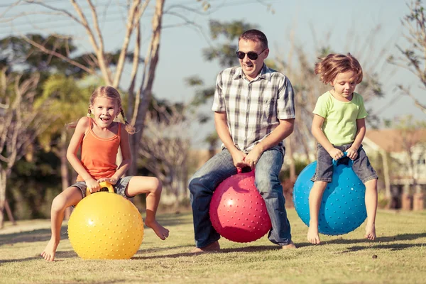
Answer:
POLYGON ((414 132, 403 129, 371 129, 367 130, 364 142, 372 142, 376 146, 373 146, 374 148, 381 148, 388 153, 403 152, 404 145, 413 147, 416 143, 426 142, 426 129, 417 129, 414 132))

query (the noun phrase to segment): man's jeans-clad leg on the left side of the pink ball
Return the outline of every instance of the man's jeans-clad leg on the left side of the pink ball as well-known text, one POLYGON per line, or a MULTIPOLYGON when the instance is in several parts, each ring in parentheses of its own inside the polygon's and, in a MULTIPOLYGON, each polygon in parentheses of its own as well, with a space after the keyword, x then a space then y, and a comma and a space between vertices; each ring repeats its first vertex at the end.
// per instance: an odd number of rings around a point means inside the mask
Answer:
POLYGON ((214 155, 189 182, 195 246, 198 251, 219 249, 220 235, 210 221, 209 207, 212 195, 220 182, 236 174, 234 161, 228 150, 214 155))

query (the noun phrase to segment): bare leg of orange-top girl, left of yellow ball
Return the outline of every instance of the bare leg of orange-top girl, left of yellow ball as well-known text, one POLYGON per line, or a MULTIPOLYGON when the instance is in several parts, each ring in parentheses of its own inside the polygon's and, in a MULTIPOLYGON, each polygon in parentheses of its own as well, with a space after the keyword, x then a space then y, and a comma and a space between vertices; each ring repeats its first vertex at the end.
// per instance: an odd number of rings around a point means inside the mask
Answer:
POLYGON ((53 200, 52 209, 50 210, 52 236, 44 251, 40 253, 46 261, 55 260, 56 249, 60 241, 60 227, 64 219, 65 209, 72 205, 77 205, 80 200, 82 200, 82 192, 78 187, 68 187, 53 200))

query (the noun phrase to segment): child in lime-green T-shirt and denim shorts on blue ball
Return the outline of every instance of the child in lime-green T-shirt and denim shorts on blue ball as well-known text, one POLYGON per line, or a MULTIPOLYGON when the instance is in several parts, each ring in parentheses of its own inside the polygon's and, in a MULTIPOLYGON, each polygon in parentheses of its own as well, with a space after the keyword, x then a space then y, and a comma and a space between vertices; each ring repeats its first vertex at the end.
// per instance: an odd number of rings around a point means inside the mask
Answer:
POLYGON ((376 239, 377 180, 361 142, 366 133, 367 116, 364 101, 354 92, 362 81, 358 60, 347 55, 329 54, 315 65, 324 84, 333 89, 322 94, 315 105, 312 134, 317 139, 317 170, 312 178, 314 185, 309 195, 310 226, 307 240, 320 244, 318 212, 327 182, 332 181, 332 160, 343 157, 343 152, 354 161, 353 170, 366 186, 367 225, 366 239, 376 239))

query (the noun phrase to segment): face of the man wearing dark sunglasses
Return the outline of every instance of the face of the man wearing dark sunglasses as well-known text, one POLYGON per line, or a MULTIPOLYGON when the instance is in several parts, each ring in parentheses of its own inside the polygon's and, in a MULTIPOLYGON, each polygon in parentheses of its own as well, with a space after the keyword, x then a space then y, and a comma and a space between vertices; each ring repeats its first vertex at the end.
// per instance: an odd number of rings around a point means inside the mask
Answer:
POLYGON ((260 42, 241 39, 238 43, 238 50, 243 53, 252 52, 258 55, 256 60, 251 60, 247 54, 243 59, 239 59, 244 74, 249 80, 253 80, 261 72, 263 61, 268 57, 269 49, 264 49, 260 42))

